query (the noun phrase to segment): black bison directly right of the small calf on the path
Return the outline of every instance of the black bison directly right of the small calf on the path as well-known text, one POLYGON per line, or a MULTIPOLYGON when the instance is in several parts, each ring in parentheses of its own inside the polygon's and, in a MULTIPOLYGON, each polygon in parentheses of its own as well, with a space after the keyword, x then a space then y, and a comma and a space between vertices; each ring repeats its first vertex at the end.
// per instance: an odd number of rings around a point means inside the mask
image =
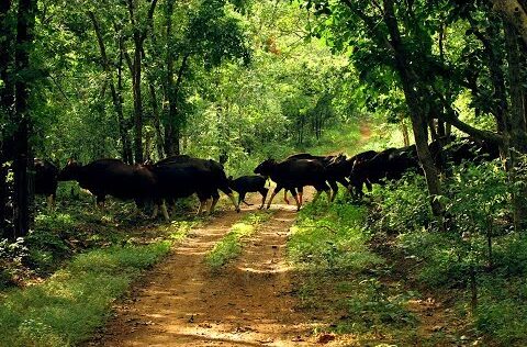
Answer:
POLYGON ((268 209, 274 195, 282 189, 289 190, 293 194, 296 210, 300 210, 301 206, 296 197, 298 187, 313 186, 317 190, 317 195, 321 191, 325 191, 329 195, 329 187, 326 184, 326 170, 315 159, 283 160, 280 163, 268 159, 256 167, 255 174, 270 177, 277 183, 277 188, 267 203, 268 209))

